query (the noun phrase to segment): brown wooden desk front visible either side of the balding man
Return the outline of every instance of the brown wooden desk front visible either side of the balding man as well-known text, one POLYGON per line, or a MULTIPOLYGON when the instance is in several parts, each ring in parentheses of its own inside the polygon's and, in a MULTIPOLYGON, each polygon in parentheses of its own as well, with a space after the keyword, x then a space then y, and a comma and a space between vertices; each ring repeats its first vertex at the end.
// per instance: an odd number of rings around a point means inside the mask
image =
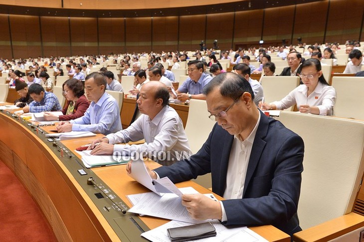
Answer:
MULTIPOLYGON (((121 109, 121 114, 120 114, 121 124, 123 128, 127 128, 130 125, 130 122, 132 121, 134 115, 136 104, 137 100, 135 98, 124 98, 123 107, 121 109)), ((170 104, 170 106, 174 108, 176 112, 179 114, 183 123, 183 127, 185 127, 188 118, 189 106, 183 104, 172 104, 172 103, 170 104)))

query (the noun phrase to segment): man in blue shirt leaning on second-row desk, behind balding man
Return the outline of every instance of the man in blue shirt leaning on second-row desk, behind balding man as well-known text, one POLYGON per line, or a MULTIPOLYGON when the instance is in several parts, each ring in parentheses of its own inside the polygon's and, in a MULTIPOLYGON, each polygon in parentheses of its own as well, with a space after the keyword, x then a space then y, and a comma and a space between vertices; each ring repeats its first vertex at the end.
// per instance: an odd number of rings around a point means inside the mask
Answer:
POLYGON ((203 73, 203 64, 201 61, 193 60, 188 62, 187 65, 189 78, 176 91, 178 94, 177 98, 181 101, 190 99, 206 100, 205 95, 202 94, 202 90, 211 81, 212 77, 203 73))

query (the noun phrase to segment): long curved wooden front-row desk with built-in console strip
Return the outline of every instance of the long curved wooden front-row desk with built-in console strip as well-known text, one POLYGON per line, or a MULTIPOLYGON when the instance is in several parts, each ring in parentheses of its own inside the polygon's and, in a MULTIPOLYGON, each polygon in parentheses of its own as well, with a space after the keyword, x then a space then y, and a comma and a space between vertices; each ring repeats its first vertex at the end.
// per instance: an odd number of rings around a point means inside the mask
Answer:
MULTIPOLYGON (((122 213, 131 206, 126 195, 149 190, 130 178, 124 165, 85 168, 72 151, 95 137, 54 143, 44 136, 54 126, 30 125, 0 112, 0 155, 34 198, 59 241, 146 241, 140 237, 142 232, 168 222, 122 213), (81 175, 81 169, 87 174, 81 175), (95 185, 87 185, 89 177, 112 202, 95 185)), ((147 164, 158 166, 152 161, 147 164)), ((210 193, 191 181, 178 186, 210 193)), ((273 226, 251 229, 269 241, 290 241, 273 226)))

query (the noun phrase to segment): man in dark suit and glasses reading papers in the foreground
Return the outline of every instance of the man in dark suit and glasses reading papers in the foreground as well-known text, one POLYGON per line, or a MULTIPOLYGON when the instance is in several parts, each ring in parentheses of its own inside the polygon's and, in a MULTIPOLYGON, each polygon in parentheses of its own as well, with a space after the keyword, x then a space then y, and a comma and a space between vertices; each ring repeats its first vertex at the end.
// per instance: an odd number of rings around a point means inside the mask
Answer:
POLYGON ((206 142, 190 159, 150 171, 151 177, 168 176, 177 183, 211 173, 212 191, 226 200, 183 195, 182 205, 193 219, 271 224, 289 235, 300 231, 302 138, 260 112, 249 83, 235 73, 213 78, 204 94, 210 118, 217 121, 206 142))

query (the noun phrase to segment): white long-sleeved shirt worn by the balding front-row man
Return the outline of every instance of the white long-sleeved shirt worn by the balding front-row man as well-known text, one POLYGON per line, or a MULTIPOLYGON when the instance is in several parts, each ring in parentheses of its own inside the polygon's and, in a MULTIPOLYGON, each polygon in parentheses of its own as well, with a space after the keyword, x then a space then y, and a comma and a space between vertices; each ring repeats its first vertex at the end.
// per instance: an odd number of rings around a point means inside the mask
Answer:
POLYGON ((109 143, 127 143, 145 139, 144 144, 116 144, 114 154, 128 155, 139 151, 143 156, 171 165, 191 155, 183 124, 176 110, 166 106, 151 120, 142 114, 127 129, 106 136, 109 143), (165 155, 165 156, 164 156, 165 155), (163 159, 163 157, 165 157, 163 159))

